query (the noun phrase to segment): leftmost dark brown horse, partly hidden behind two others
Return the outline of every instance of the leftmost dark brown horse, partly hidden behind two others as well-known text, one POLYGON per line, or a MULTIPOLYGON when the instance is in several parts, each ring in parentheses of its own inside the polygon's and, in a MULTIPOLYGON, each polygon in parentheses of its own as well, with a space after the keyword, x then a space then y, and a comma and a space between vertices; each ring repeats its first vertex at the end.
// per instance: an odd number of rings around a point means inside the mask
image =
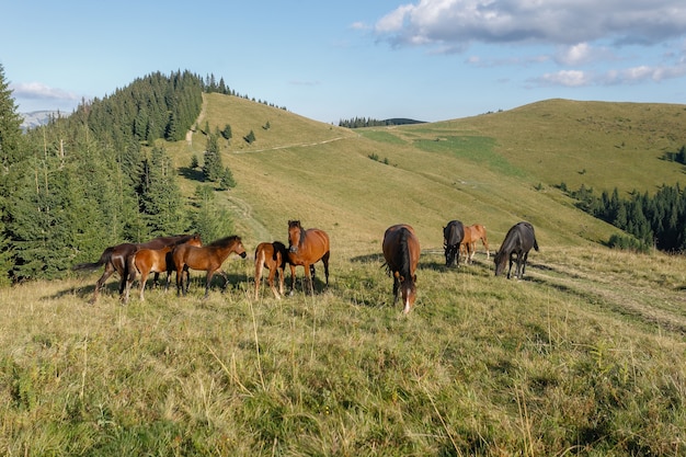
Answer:
MULTIPOLYGON (((134 253, 139 249, 162 249, 165 245, 173 245, 174 243, 182 242, 183 240, 191 240, 193 237, 197 237, 196 235, 174 235, 171 237, 158 237, 145 243, 122 243, 117 245, 113 245, 106 248, 100 260, 98 262, 92 263, 80 263, 78 265, 73 265, 71 270, 81 271, 81 270, 95 270, 102 265, 105 266, 105 271, 103 272, 98 283, 95 283, 95 292, 93 293, 93 298, 90 299, 90 304, 95 304, 98 301, 98 295, 100 289, 105 284, 105 281, 113 273, 117 273, 121 277, 119 282, 119 297, 124 300, 124 289, 126 287, 126 281, 129 275, 134 275, 136 271, 129 269, 129 259, 134 253)), ((156 279, 158 274, 156 273, 156 279)), ((133 279, 132 279, 133 281, 133 279)))

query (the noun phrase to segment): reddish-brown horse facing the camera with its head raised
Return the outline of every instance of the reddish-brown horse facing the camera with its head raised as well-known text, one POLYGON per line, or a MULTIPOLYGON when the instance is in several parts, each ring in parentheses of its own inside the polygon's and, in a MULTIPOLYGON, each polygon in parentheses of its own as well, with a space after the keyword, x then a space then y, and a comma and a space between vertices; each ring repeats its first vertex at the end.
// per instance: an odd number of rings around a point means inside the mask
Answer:
POLYGON ((290 294, 296 286, 296 266, 305 269, 305 282, 310 295, 315 295, 313 277, 315 263, 324 264, 324 276, 329 286, 329 236, 325 231, 311 228, 305 230, 299 220, 288 221, 288 263, 290 263, 290 294))

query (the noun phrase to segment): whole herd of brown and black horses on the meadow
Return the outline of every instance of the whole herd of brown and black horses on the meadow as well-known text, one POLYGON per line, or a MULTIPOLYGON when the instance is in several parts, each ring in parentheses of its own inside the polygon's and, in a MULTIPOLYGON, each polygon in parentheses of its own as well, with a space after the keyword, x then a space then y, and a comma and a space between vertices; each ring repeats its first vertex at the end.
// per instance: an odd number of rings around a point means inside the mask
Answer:
MULTIPOLYGON (((482 225, 465 226, 459 220, 450 220, 443 228, 443 241, 446 267, 458 265, 460 253, 465 256, 465 263, 471 263, 478 241, 481 241, 485 249, 487 259, 490 258, 485 228, 482 225)), ((514 276, 523 278, 531 249, 538 251, 534 227, 526 221, 515 224, 494 254, 495 276, 503 274, 508 263, 507 278, 511 277, 513 264, 516 264, 514 276)), ((416 269, 421 253, 414 229, 407 224, 389 227, 384 233, 381 250, 387 272, 393 279, 393 305, 402 299, 403 312, 408 313, 416 298, 416 269)), ((114 273, 119 276, 119 296, 124 302, 128 302, 137 276, 140 276, 139 298, 141 301, 145 300, 144 292, 150 274, 155 275, 153 283, 157 284, 159 275, 167 273, 165 287, 169 287, 172 273, 175 273, 176 295, 185 296, 188 290, 190 270, 206 272, 205 297, 207 297, 215 275, 224 278, 224 289, 227 288, 228 277, 221 265, 231 253, 243 259, 247 256, 245 248, 238 236, 203 244, 197 233, 176 235, 158 237, 145 243, 122 243, 106 248, 96 262, 80 263, 72 270, 93 271, 104 266, 102 276, 95 283, 91 304, 98 300, 100 290, 114 273)), ((315 264, 320 261, 324 266, 325 285, 329 286, 330 255, 330 241, 325 231, 317 228, 305 229, 299 220, 289 220, 288 247, 279 241, 273 241, 262 242, 255 248, 255 299, 260 297, 262 273, 265 267, 270 272, 268 286, 277 299, 284 295, 286 265, 290 267, 290 294, 295 292, 296 266, 302 266, 305 270, 306 292, 315 294, 315 264), (274 284, 276 276, 278 289, 274 284)))

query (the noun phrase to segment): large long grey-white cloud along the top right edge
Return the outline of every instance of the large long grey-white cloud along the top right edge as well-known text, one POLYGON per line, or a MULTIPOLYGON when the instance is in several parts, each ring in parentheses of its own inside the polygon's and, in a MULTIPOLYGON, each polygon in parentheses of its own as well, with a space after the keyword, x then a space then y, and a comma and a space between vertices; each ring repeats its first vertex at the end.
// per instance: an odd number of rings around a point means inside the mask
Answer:
MULTIPOLYGON (((376 22, 396 46, 545 43, 656 44, 684 35, 683 0, 419 0, 376 22)), ((582 50, 582 49, 578 49, 582 50)))

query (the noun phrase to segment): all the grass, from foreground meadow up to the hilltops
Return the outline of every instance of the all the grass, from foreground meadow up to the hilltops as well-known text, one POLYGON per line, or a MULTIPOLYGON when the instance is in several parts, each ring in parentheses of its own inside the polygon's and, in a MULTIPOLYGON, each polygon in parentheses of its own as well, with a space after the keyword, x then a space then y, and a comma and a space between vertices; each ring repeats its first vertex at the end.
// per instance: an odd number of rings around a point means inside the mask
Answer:
MULTIPOLYGON (((683 113, 548 101, 348 130, 206 95, 198 125, 233 132, 221 198, 247 249, 287 241, 288 219, 324 229, 329 287, 318 265, 315 296, 298 281, 254 300, 249 255, 207 299, 199 273, 186 297, 127 306, 114 281, 88 305, 98 273, 0 289, 0 454, 686 455, 684 259, 606 249, 615 229, 557 187, 683 183, 660 159, 686 144, 683 113), (491 252, 529 220, 540 252, 523 281, 494 277, 480 244, 446 269, 450 219, 484 224, 491 252), (380 259, 396 222, 422 243, 409 316, 380 259)), ((186 195, 204 146, 197 129, 165 145, 186 195)))

